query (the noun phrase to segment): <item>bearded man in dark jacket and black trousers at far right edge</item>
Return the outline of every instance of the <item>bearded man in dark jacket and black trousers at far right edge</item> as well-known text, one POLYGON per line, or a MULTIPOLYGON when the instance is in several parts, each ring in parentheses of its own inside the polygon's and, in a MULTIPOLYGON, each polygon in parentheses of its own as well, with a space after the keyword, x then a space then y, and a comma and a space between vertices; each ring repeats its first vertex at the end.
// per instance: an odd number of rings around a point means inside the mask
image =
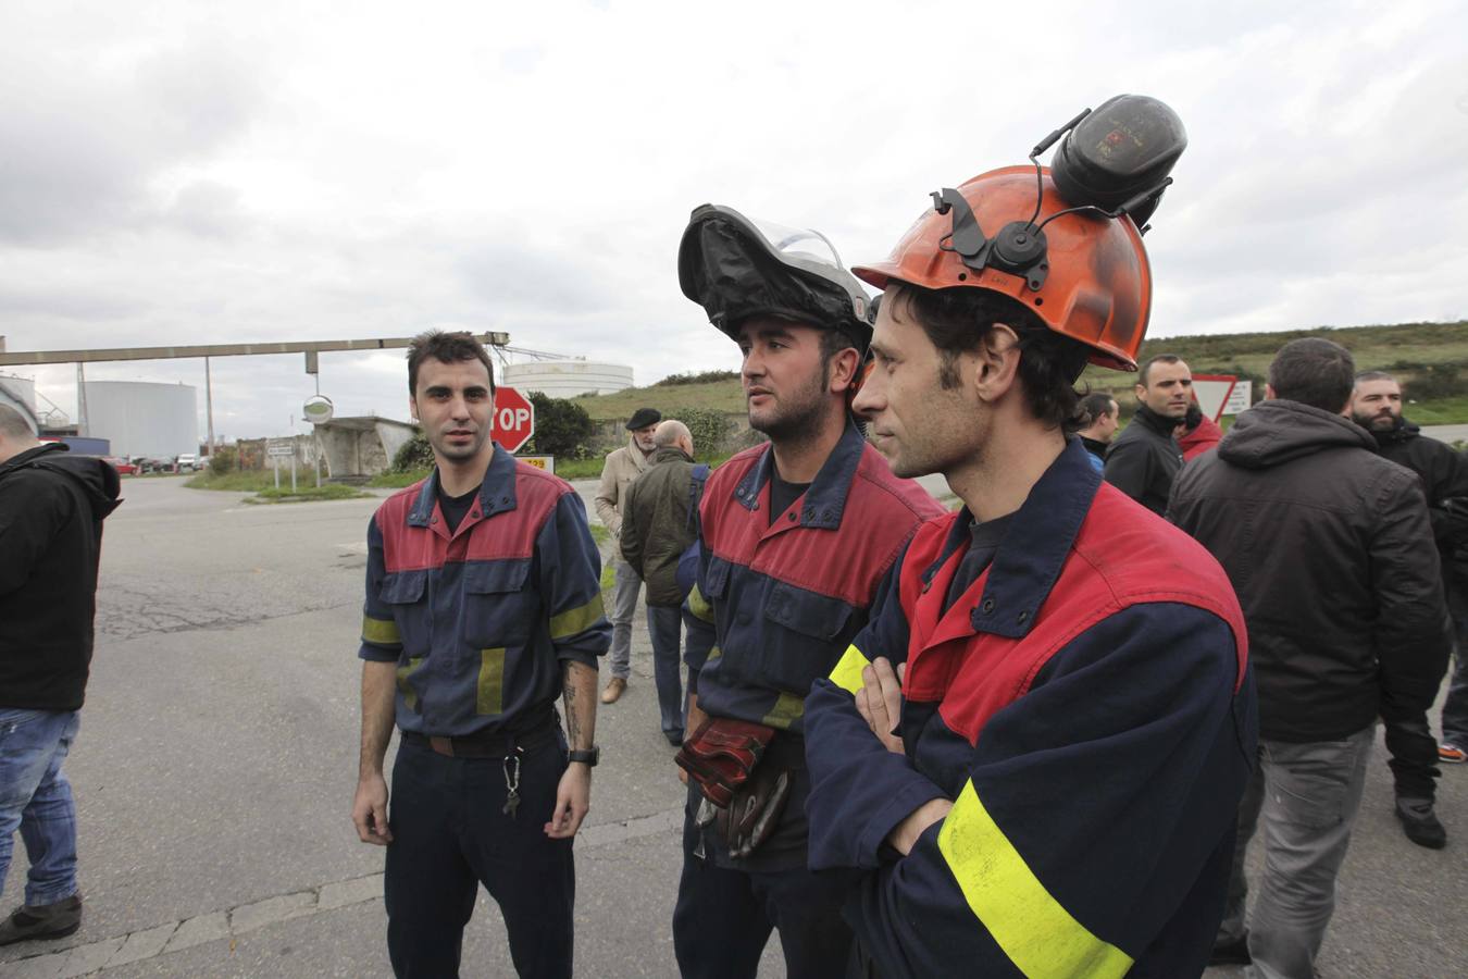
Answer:
MULTIPOLYGON (((1468 501, 1468 458, 1453 452, 1437 439, 1424 439, 1421 429, 1402 417, 1402 386, 1392 374, 1373 370, 1356 377, 1351 399, 1351 417, 1376 439, 1377 454, 1417 473, 1427 495, 1427 517, 1443 571, 1443 590, 1449 608, 1455 606, 1452 568, 1453 550, 1468 543, 1468 515, 1455 515, 1449 501, 1468 501)), ((1462 646, 1458 636, 1458 663, 1462 669, 1462 646)), ((1462 684, 1459 684, 1461 687, 1462 684)), ((1443 707, 1445 727, 1462 706, 1450 702, 1443 707), (1455 710, 1456 707, 1456 710, 1455 710)), ((1468 731, 1443 734, 1443 743, 1453 746, 1468 731)), ((1398 812, 1403 813, 1402 828, 1408 840, 1439 848, 1447 842, 1447 832, 1433 812, 1437 790, 1437 743, 1427 724, 1427 712, 1411 716, 1386 718, 1386 746, 1392 753, 1392 776, 1396 784, 1398 812)), ((1452 751, 1449 751, 1449 759, 1452 751)))

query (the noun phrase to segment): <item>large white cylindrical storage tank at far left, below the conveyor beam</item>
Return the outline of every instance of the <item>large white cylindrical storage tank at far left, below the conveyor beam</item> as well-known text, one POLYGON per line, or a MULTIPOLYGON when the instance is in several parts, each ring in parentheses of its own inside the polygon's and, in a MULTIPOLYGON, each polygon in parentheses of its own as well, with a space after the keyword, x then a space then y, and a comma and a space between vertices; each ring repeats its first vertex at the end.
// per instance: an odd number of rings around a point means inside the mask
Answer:
POLYGON ((144 380, 88 380, 87 432, 112 454, 172 459, 198 452, 198 390, 144 380))

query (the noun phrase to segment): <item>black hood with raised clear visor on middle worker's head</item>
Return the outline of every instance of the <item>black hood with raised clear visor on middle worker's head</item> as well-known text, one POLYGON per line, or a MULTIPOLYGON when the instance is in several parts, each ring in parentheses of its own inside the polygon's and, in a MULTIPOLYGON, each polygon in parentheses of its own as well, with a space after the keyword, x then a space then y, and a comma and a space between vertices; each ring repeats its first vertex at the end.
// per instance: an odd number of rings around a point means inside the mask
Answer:
POLYGON ((750 220, 731 207, 694 208, 678 245, 678 285, 733 338, 752 316, 774 316, 872 341, 871 299, 818 230, 750 220))

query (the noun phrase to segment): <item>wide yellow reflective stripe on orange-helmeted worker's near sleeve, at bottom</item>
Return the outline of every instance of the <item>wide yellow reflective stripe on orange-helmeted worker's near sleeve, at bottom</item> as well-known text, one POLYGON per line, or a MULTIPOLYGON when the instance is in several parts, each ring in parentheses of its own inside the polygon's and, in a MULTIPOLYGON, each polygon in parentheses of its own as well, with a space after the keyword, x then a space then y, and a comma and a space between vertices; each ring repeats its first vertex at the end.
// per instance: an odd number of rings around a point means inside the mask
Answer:
POLYGON ((972 781, 944 819, 938 850, 969 909, 1029 979, 1108 979, 1132 967, 1130 956, 1092 935, 1050 895, 972 781))

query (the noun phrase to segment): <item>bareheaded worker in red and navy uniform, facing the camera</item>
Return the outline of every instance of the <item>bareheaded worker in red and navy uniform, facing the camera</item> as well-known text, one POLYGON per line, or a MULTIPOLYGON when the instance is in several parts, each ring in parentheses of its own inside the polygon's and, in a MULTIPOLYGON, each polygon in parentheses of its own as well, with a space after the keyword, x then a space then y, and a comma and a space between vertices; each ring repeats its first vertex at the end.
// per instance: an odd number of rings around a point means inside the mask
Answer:
POLYGON ((408 387, 435 471, 383 502, 367 531, 352 804, 361 840, 388 847, 388 953, 398 976, 457 976, 483 884, 515 972, 570 978, 571 842, 611 643, 600 559, 575 490, 489 440, 493 377, 471 335, 415 338, 408 387))

